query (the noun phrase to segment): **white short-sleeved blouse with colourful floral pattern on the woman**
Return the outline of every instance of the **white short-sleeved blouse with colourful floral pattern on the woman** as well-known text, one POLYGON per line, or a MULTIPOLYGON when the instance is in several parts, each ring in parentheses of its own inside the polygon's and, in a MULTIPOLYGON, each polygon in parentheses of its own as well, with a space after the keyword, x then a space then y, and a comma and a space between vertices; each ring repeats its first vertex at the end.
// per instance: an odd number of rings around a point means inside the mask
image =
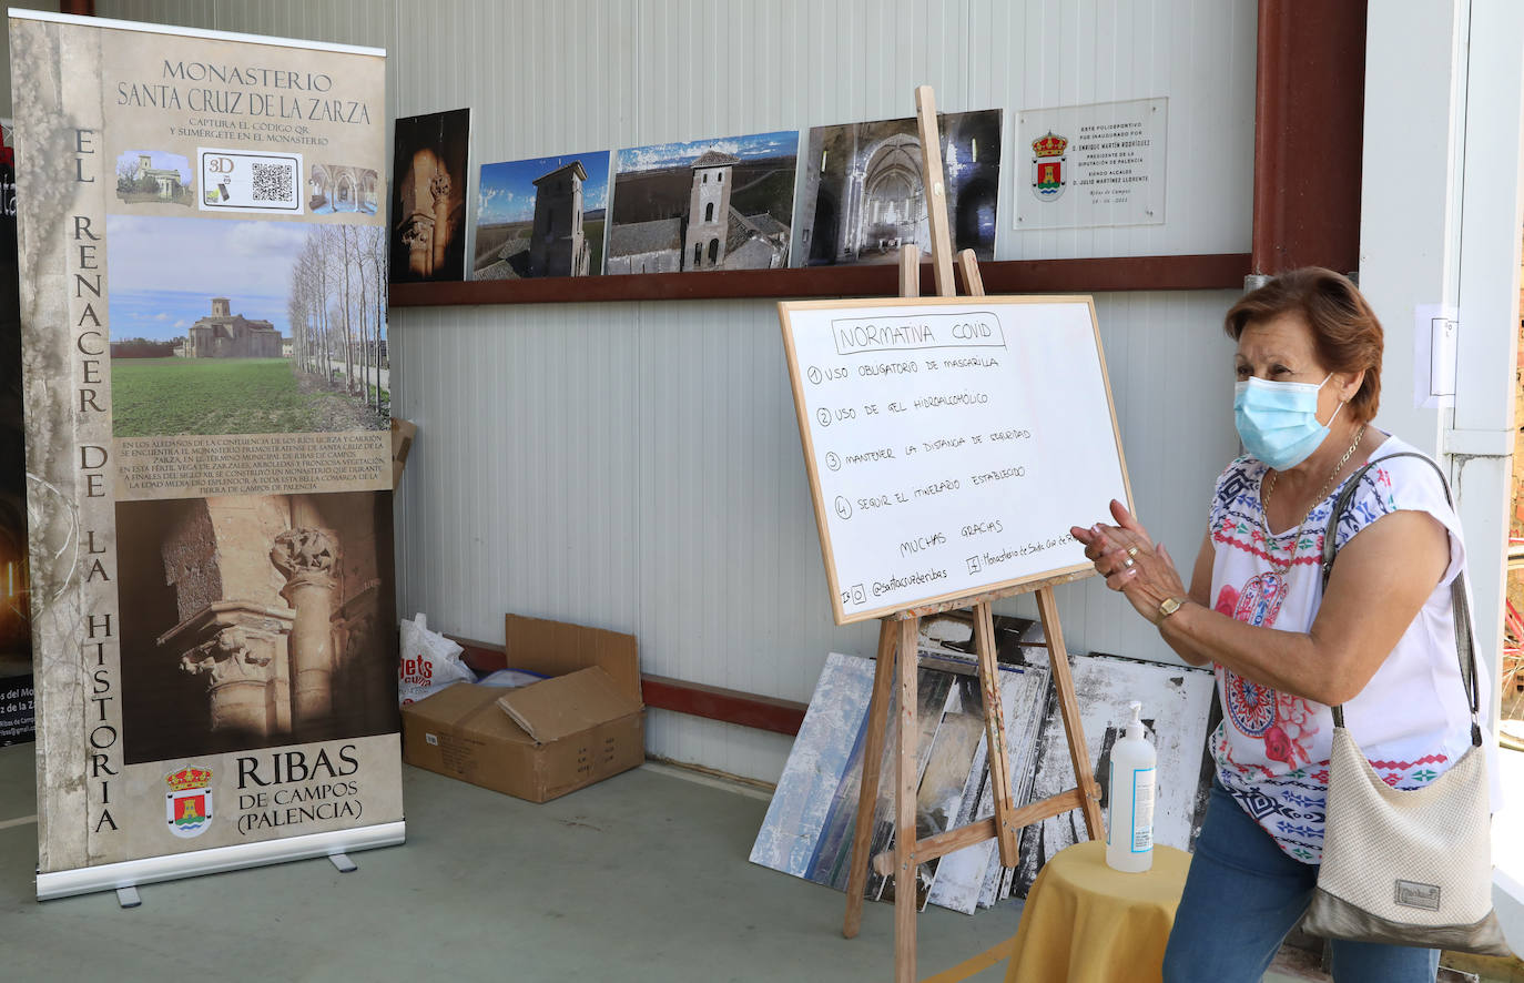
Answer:
MULTIPOLYGON (((1407 450, 1413 448, 1388 437, 1372 460, 1407 450)), ((1209 517, 1212 605, 1250 625, 1301 632, 1312 626, 1323 600, 1318 565, 1340 489, 1312 509, 1300 530, 1266 538, 1260 504, 1265 472, 1254 457, 1239 457, 1218 479, 1209 517)), ((1344 722, 1376 774, 1393 788, 1410 789, 1433 782, 1471 744, 1449 594, 1466 556, 1460 520, 1439 475, 1414 457, 1366 472, 1335 533, 1338 547, 1398 511, 1428 512, 1449 530, 1449 565, 1376 675, 1344 704, 1344 722)), ((1224 666, 1216 666, 1216 675, 1224 716, 1212 735, 1218 780, 1280 849, 1318 863, 1334 741, 1330 710, 1224 666)), ((1487 692, 1484 681, 1478 684, 1487 692)))

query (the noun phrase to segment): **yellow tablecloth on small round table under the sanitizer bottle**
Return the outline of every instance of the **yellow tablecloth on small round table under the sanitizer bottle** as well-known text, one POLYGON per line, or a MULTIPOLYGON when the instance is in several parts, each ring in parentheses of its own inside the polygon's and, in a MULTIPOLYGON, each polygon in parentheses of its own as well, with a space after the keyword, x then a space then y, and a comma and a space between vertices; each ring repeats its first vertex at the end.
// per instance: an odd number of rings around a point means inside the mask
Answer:
POLYGON ((1154 869, 1120 873, 1100 840, 1061 850, 1038 873, 1006 983, 1157 983, 1190 855, 1154 847, 1154 869))

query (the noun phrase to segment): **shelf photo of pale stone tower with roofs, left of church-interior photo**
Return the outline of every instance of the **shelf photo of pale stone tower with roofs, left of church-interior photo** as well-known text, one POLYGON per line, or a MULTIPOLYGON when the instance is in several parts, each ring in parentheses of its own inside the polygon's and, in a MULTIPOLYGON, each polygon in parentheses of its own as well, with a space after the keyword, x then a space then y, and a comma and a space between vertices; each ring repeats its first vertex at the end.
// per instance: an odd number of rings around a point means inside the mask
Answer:
POLYGON ((607 273, 788 265, 799 131, 619 151, 607 273))

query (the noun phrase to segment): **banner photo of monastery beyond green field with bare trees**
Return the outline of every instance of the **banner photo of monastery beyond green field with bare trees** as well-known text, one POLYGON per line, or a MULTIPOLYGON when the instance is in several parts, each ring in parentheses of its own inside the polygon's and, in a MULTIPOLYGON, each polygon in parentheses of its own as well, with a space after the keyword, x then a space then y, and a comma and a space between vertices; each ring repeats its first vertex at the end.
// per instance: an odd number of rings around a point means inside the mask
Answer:
POLYGON ((389 425, 378 226, 108 223, 119 437, 389 425))

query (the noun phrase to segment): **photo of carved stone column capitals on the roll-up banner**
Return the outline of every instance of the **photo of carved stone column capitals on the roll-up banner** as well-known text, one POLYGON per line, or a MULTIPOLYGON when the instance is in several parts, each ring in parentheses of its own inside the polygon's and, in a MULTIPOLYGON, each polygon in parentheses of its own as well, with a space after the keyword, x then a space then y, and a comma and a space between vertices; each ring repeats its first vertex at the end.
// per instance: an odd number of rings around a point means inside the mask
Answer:
POLYGON ((126 764, 396 730, 390 492, 116 512, 126 764))

